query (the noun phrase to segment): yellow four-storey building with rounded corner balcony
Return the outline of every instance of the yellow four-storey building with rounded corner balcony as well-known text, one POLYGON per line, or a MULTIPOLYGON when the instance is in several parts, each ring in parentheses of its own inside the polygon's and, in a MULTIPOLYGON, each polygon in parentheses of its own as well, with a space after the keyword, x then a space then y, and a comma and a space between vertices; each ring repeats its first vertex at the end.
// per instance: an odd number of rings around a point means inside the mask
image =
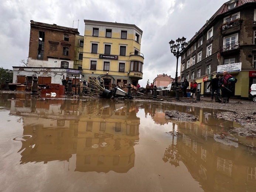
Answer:
POLYGON ((112 84, 142 79, 144 56, 140 53, 140 28, 133 24, 84 20, 83 74, 85 80, 102 78, 105 88, 112 84))

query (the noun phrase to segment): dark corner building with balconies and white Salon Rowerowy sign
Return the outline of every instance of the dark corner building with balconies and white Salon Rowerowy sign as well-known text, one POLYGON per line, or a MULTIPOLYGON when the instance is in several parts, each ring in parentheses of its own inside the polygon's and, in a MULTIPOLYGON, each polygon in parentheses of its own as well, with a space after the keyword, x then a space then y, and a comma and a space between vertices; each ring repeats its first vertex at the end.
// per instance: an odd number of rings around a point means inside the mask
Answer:
POLYGON ((248 98, 256 82, 256 0, 231 0, 188 42, 181 59, 181 80, 195 79, 201 94, 223 71, 238 79, 234 95, 248 98))

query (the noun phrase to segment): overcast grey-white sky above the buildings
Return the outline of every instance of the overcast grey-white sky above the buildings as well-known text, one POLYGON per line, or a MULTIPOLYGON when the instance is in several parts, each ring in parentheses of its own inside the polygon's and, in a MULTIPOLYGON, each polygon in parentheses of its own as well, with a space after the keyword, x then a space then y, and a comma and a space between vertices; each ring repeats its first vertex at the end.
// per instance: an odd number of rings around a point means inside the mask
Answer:
MULTIPOLYGON (((28 57, 30 20, 78 28, 84 19, 135 24, 143 31, 143 79, 159 74, 175 78, 176 58, 168 42, 189 41, 227 0, 1 0, 0 67, 13 69, 28 57), (79 23, 78 21, 79 20, 79 23)), ((180 58, 181 59, 181 58, 180 58)), ((178 76, 180 75, 180 59, 178 76)))

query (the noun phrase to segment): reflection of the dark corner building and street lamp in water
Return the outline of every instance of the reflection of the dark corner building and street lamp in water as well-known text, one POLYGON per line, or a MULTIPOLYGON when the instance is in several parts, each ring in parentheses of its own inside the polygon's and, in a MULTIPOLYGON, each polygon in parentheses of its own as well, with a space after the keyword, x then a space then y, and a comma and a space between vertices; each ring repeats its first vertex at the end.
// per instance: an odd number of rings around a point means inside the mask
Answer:
POLYGON ((216 112, 201 109, 197 122, 178 122, 163 161, 184 163, 204 191, 255 191, 256 153, 228 134, 236 123, 218 120, 216 112))

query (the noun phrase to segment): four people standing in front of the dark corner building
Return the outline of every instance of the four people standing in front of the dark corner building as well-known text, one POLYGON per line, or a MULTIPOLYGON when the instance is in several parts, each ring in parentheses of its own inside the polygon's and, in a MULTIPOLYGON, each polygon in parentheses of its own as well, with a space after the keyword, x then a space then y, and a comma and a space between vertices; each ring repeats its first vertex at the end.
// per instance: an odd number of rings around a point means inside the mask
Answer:
MULTIPOLYGON (((213 100, 214 92, 218 94, 219 100, 223 103, 229 103, 229 98, 231 97, 231 94, 235 88, 235 83, 237 82, 237 79, 228 74, 228 71, 223 72, 223 76, 219 79, 219 75, 217 74, 214 79, 211 80, 210 84, 208 85, 207 89, 211 86, 211 100, 213 100), (220 91, 221 90, 221 91, 220 91), (222 99, 221 99, 222 97, 222 99)), ((187 88, 189 86, 189 83, 187 79, 184 79, 182 82, 182 91, 183 96, 187 97, 187 88)), ((193 80, 190 83, 190 89, 191 89, 191 97, 195 98, 195 92, 197 90, 197 82, 193 80)))

